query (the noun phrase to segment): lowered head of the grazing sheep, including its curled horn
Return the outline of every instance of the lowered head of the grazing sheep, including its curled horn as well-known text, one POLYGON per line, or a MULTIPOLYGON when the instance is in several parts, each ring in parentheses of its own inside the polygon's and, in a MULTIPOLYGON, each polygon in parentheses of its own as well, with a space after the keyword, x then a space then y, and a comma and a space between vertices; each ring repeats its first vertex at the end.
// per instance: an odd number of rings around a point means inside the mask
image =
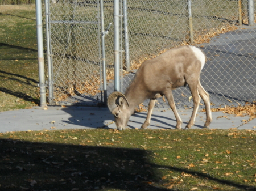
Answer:
POLYGON ((125 130, 130 118, 129 102, 125 95, 118 91, 110 94, 108 97, 108 108, 115 117, 117 129, 125 130))

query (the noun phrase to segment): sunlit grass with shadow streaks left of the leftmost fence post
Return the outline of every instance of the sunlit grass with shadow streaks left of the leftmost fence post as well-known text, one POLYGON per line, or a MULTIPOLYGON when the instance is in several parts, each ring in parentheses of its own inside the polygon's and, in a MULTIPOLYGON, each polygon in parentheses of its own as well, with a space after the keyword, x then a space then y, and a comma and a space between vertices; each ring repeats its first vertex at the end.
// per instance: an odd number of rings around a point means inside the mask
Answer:
POLYGON ((35 5, 0 6, 0 112, 39 104, 35 5))

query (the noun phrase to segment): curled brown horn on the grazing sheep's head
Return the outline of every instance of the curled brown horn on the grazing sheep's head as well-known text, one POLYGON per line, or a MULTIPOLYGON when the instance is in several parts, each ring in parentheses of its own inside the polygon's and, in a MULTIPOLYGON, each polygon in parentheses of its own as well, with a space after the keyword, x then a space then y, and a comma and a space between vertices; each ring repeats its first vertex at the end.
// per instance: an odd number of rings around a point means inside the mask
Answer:
POLYGON ((123 95, 121 92, 118 92, 118 91, 112 92, 109 95, 108 102, 107 102, 109 111, 112 112, 113 109, 115 109, 118 106, 122 107, 124 101, 126 101, 128 107, 129 107, 129 102, 125 95, 123 95))

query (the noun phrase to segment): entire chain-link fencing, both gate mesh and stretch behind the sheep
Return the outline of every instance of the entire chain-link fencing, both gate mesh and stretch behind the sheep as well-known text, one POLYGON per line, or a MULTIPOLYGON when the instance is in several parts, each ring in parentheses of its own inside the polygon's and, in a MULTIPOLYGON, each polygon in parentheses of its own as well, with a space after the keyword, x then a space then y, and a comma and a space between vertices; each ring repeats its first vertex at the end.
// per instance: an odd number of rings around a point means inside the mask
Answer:
MULTIPOLYGON (((54 88, 51 100, 54 104, 81 103, 88 97, 101 100, 99 2, 61 0, 49 3, 54 88), (60 20, 62 22, 56 22, 60 20)), ((193 40, 208 57, 201 83, 209 92, 212 105, 256 100, 256 29, 248 24, 248 7, 251 6, 248 2, 251 0, 128 0, 127 31, 123 30, 124 21, 120 19, 121 36, 125 32, 129 36, 129 57, 123 52, 120 59, 121 91, 125 92, 143 61, 172 47, 191 44, 193 40)), ((114 1, 103 3, 106 28, 113 23, 114 1)), ((122 15, 123 1, 120 5, 122 15)), ((254 20, 254 12, 253 16, 254 20)), ((122 37, 120 40, 125 50, 127 42, 122 37)), ((114 91, 113 49, 112 25, 105 36, 108 94, 114 91)), ((175 90, 177 105, 192 106, 188 101, 190 95, 188 87, 175 90)))

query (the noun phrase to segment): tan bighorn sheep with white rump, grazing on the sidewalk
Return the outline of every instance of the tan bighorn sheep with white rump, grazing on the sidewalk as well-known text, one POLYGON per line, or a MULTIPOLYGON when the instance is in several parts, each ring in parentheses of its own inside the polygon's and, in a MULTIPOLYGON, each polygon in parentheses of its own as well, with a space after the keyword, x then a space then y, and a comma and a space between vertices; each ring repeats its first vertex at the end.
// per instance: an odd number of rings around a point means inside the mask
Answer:
POLYGON ((146 121, 141 126, 142 129, 146 129, 150 125, 156 99, 164 95, 175 114, 176 129, 181 129, 182 121, 175 107, 172 90, 186 84, 189 86, 194 104, 192 116, 186 128, 189 129, 194 125, 200 96, 204 101, 207 116, 204 128, 209 128, 212 122, 210 99, 200 83, 200 73, 205 60, 205 54, 199 48, 179 46, 142 63, 125 95, 115 91, 108 97, 108 108, 115 117, 117 128, 125 130, 135 107, 144 100, 150 99, 146 121))

